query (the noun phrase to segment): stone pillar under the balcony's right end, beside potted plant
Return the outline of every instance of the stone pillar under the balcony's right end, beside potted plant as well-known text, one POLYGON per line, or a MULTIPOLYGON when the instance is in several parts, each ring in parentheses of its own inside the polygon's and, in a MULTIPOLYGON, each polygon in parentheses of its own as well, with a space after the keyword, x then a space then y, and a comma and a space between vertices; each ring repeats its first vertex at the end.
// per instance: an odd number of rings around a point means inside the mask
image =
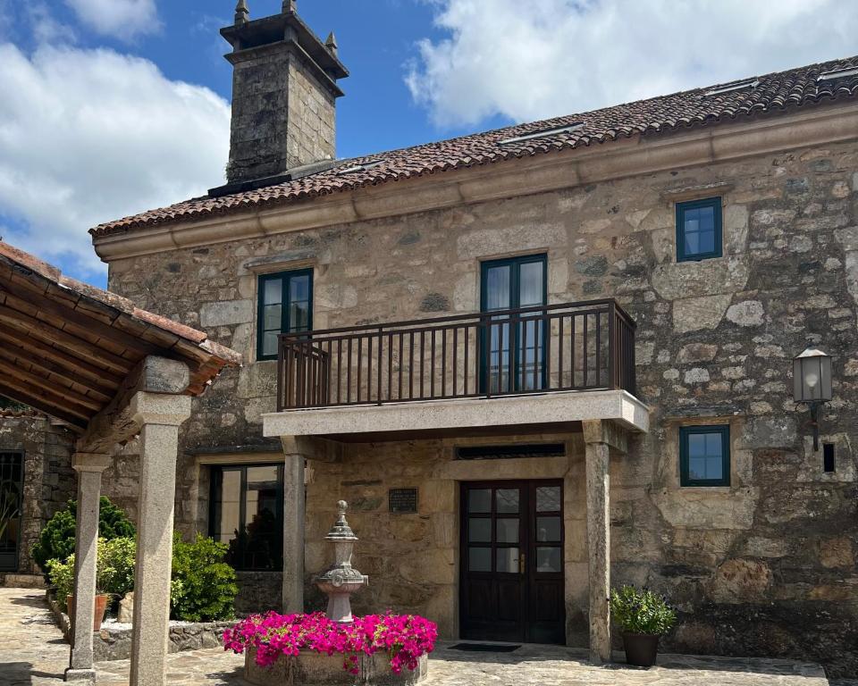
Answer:
POLYGON ((590 662, 601 665, 610 662, 610 451, 603 422, 583 424, 590 564, 590 662))

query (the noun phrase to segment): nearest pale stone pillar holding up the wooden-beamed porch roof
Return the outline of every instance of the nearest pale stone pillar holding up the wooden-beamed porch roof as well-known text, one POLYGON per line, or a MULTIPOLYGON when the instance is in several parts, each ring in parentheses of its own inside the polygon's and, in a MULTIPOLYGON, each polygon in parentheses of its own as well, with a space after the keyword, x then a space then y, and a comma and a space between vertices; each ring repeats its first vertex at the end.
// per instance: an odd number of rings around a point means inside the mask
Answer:
POLYGON ((190 416, 190 397, 140 391, 131 398, 130 409, 141 426, 130 686, 163 686, 176 458, 179 426, 190 416))

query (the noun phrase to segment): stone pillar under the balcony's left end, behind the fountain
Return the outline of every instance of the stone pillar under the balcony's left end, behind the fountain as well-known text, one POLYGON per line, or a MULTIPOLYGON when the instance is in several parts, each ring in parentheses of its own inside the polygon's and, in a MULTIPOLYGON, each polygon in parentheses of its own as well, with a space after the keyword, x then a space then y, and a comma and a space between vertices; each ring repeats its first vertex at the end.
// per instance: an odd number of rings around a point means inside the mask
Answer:
POLYGON ((304 612, 304 464, 302 441, 283 438, 283 613, 304 612))

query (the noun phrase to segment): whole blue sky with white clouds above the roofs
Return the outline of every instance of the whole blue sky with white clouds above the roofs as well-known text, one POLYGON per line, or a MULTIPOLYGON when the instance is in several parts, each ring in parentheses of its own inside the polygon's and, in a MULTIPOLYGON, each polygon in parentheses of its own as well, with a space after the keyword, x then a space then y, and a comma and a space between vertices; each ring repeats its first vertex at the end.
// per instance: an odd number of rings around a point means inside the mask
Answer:
MULTIPOLYGON (((248 4, 261 17, 281 0, 248 4)), ((88 228, 220 185, 231 66, 218 29, 234 5, 0 0, 0 235, 104 286, 88 228)), ((336 33, 351 71, 341 157, 858 52, 858 4, 837 0, 299 0, 299 12, 336 33)))

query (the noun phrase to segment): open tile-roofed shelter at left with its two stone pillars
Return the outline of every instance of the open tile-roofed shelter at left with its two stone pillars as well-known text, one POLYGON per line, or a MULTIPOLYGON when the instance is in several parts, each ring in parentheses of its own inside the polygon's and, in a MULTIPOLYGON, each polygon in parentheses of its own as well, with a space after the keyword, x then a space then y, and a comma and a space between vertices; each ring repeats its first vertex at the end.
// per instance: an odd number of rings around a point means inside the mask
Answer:
POLYGON ((165 682, 173 501, 181 424, 240 356, 206 334, 71 280, 0 242, 0 394, 78 435, 74 627, 66 681, 95 682, 93 633, 102 473, 138 438, 139 518, 130 682, 165 682))

